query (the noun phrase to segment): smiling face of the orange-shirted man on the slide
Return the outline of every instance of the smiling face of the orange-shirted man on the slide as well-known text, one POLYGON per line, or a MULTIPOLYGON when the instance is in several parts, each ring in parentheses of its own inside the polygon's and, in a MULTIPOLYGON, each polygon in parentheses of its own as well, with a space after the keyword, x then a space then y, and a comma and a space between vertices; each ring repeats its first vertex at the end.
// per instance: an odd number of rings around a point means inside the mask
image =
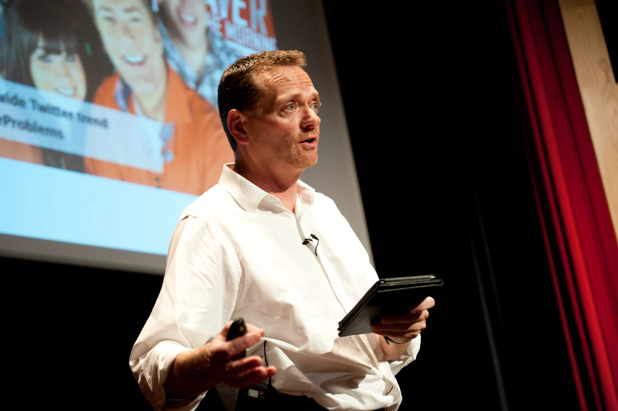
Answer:
POLYGON ((161 35, 142 0, 94 0, 96 27, 114 66, 135 91, 163 81, 161 35))

